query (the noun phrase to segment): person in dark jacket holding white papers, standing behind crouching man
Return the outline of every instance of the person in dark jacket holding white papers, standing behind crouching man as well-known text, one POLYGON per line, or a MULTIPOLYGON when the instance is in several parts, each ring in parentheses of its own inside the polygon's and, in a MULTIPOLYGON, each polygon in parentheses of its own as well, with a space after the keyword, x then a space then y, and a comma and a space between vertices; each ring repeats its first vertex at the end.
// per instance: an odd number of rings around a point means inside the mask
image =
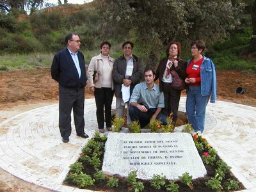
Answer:
MULTIPOLYGON (((115 60, 112 71, 115 83, 116 115, 119 118, 124 117, 125 104, 129 103, 134 86, 140 83, 143 76, 141 60, 132 54, 133 43, 124 42, 122 48, 124 54, 115 60)), ((131 118, 129 117, 129 110, 127 110, 127 125, 129 124, 131 124, 131 118)))

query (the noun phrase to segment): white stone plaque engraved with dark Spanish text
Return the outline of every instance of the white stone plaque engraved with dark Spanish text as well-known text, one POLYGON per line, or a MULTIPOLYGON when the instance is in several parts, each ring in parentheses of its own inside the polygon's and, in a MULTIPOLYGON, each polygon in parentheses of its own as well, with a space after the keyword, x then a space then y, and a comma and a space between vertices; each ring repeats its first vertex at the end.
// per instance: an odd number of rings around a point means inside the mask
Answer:
POLYGON ((172 180, 186 172, 193 179, 206 175, 191 135, 182 132, 111 132, 105 145, 102 171, 124 177, 137 171, 137 177, 146 180, 162 173, 172 180))

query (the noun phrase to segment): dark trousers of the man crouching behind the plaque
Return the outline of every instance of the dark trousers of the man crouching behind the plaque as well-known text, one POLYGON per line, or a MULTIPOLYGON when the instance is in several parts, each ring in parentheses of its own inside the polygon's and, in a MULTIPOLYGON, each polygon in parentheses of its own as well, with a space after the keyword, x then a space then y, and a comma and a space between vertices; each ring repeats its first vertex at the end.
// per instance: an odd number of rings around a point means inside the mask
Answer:
MULTIPOLYGON (((150 119, 156 113, 156 108, 154 109, 148 109, 147 112, 142 112, 140 109, 135 108, 134 106, 130 106, 129 108, 129 113, 130 113, 130 118, 133 121, 139 121, 140 122, 140 127, 143 128, 147 124, 149 124, 150 119)), ((157 120, 160 120, 162 124, 166 125, 166 116, 163 115, 163 113, 159 113, 156 117, 157 120)))

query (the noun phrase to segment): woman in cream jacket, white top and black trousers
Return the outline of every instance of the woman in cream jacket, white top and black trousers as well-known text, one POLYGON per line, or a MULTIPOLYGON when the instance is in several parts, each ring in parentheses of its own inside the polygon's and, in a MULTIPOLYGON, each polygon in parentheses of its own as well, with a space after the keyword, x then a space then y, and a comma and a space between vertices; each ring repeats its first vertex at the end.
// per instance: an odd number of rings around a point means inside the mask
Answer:
POLYGON ((90 61, 88 67, 88 81, 90 91, 94 94, 96 102, 96 115, 98 128, 100 132, 104 132, 104 107, 106 128, 112 130, 111 125, 111 105, 113 100, 114 83, 112 79, 112 70, 114 59, 109 56, 111 44, 102 42, 100 44, 100 54, 90 61), (93 81, 93 74, 99 73, 99 79, 93 81))

